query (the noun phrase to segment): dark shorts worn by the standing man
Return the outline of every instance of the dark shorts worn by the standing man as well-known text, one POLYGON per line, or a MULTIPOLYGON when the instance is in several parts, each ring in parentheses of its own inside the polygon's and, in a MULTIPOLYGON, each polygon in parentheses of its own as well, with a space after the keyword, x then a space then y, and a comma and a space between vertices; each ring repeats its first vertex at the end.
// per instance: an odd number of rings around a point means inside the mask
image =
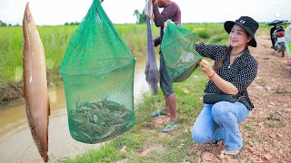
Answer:
POLYGON ((160 52, 160 87, 164 96, 174 93, 173 82, 166 70, 166 63, 162 52, 160 52))

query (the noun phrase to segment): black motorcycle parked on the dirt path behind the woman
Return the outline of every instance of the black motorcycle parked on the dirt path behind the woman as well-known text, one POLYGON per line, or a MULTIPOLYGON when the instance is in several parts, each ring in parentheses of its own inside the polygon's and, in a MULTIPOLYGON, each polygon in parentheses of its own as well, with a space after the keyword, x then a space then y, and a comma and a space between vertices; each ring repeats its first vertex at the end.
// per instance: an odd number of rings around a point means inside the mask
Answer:
MULTIPOLYGON (((275 20, 271 23, 267 23, 268 26, 273 26, 270 30, 270 36, 272 41, 272 49, 274 53, 278 52, 281 54, 281 57, 285 56, 286 46, 285 46, 285 29, 284 25, 290 24, 286 20, 275 20)), ((273 54, 274 54, 273 53, 273 54)))

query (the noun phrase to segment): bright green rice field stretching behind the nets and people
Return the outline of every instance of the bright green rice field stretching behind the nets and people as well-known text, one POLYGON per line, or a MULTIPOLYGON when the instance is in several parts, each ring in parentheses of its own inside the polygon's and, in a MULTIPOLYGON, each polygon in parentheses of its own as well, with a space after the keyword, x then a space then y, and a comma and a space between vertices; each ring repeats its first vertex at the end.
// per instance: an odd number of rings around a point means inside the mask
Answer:
MULTIPOLYGON (((183 24, 183 26, 196 32, 197 41, 202 42, 214 35, 219 36, 224 31, 222 24, 183 24)), ((75 25, 37 27, 44 43, 46 68, 49 74, 58 73, 65 49, 76 28, 75 25)), ((142 57, 146 54, 146 24, 115 24, 115 28, 134 56, 142 57)), ((152 31, 154 37, 159 35, 159 28, 155 25, 152 26, 152 31)), ((22 27, 1 27, 0 35, 0 88, 3 88, 7 83, 22 81, 22 27)), ((226 34, 223 35, 225 36, 227 37, 226 34)))

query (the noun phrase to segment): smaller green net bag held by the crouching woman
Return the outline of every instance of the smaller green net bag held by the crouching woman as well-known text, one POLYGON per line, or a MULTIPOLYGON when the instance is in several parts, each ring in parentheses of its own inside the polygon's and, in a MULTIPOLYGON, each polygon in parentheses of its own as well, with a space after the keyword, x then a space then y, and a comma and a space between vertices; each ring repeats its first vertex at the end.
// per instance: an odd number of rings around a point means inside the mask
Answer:
POLYGON ((161 51, 173 82, 183 82, 196 70, 202 56, 195 50, 196 34, 167 21, 161 51))

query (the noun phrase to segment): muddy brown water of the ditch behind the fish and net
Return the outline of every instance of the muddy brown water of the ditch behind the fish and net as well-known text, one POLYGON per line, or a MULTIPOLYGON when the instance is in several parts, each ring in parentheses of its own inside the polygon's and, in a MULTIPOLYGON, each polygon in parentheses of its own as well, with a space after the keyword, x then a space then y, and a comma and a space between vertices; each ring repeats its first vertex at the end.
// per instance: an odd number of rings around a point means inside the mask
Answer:
MULTIPOLYGON (((145 61, 135 64, 135 102, 148 91, 145 81, 145 61)), ((51 116, 49 119, 49 162, 98 148, 100 144, 84 144, 70 136, 63 87, 49 89, 51 116)), ((0 162, 43 162, 31 137, 25 116, 24 100, 13 101, 0 110, 0 162)))

